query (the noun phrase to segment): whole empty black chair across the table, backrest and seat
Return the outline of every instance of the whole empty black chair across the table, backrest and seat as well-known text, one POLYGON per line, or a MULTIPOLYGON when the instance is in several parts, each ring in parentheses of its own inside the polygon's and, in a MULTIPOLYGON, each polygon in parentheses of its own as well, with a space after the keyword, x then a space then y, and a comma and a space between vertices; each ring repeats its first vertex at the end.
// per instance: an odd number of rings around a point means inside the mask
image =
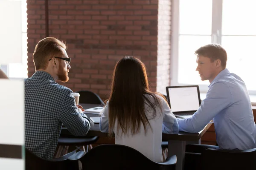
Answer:
MULTIPOLYGON (((87 103, 87 104, 96 104, 101 105, 103 103, 102 99, 92 91, 77 91, 76 93, 80 94, 79 97, 79 103, 87 103)), ((69 146, 76 146, 77 148, 83 147, 84 152, 85 148, 84 146, 87 146, 86 152, 88 152, 89 147, 92 148, 93 143, 97 142, 99 139, 99 136, 81 136, 81 137, 75 137, 70 135, 64 135, 66 129, 61 130, 61 135, 58 140, 58 145, 60 146, 58 149, 58 152, 56 154, 56 157, 61 156, 63 153, 67 152, 69 146)))

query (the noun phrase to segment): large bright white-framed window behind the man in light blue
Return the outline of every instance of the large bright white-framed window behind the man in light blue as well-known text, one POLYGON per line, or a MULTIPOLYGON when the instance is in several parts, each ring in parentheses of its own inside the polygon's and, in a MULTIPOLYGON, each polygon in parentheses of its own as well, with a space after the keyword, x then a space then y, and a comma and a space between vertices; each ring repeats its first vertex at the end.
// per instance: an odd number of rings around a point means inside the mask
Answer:
POLYGON ((240 76, 250 94, 256 94, 256 0, 172 0, 172 85, 201 81, 194 55, 202 45, 221 44, 227 68, 240 76))

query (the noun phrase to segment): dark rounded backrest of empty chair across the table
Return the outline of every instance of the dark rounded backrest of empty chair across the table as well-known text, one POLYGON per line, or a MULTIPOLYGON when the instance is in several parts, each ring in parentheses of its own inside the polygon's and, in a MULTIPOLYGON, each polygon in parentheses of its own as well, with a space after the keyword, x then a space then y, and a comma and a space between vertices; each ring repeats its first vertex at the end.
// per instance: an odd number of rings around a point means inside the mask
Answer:
POLYGON ((103 103, 102 99, 92 91, 77 91, 80 94, 79 103, 98 104, 103 103))

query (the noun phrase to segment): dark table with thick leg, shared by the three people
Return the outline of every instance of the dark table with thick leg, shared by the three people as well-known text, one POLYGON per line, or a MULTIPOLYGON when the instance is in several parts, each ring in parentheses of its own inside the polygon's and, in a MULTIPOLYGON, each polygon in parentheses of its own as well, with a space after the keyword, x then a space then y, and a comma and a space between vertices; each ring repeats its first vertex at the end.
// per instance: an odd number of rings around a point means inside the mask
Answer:
MULTIPOLYGON (((99 105, 94 104, 83 104, 79 103, 84 109, 97 107, 99 105)), ((99 114, 91 114, 91 113, 85 113, 87 117, 90 119, 90 117, 100 117, 99 114)), ((102 133, 99 130, 99 124, 94 124, 91 122, 91 128, 89 132, 87 133, 87 136, 108 136, 108 133, 102 133)), ((204 127, 203 130, 201 130, 198 133, 186 133, 179 131, 178 134, 166 134, 163 133, 162 140, 168 141, 168 157, 172 155, 177 156, 177 164, 176 164, 176 170, 183 170, 184 168, 184 161, 185 161, 185 149, 186 144, 201 144, 201 137, 204 135, 204 133, 209 129, 209 127, 212 124, 209 123, 204 127)))

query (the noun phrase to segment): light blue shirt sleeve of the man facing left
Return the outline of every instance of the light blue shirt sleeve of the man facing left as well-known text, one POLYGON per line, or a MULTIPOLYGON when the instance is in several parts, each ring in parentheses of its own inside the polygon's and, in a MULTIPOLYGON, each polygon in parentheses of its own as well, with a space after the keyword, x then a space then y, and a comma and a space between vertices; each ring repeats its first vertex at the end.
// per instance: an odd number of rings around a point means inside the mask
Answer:
POLYGON ((222 110, 229 107, 233 101, 230 89, 222 82, 216 82, 209 88, 206 98, 192 117, 177 119, 180 130, 198 133, 222 110))

